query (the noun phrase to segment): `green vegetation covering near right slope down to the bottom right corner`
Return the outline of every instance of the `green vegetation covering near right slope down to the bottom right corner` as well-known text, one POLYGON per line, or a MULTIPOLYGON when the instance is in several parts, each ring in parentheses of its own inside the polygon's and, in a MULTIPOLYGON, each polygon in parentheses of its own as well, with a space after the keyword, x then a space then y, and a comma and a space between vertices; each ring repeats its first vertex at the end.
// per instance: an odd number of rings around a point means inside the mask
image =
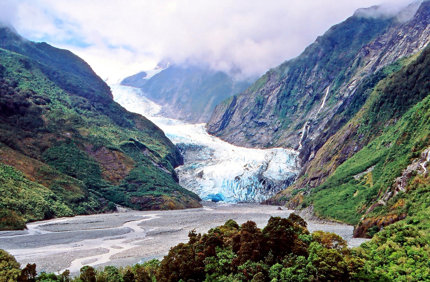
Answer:
POLYGON ((387 281, 430 281, 430 178, 420 166, 428 166, 421 153, 430 146, 429 80, 430 47, 365 77, 357 99, 335 117, 352 119, 303 176, 330 177, 316 188, 297 185, 282 194, 295 204, 292 196, 301 196, 302 208, 313 205, 317 216, 373 237, 352 254, 387 281))

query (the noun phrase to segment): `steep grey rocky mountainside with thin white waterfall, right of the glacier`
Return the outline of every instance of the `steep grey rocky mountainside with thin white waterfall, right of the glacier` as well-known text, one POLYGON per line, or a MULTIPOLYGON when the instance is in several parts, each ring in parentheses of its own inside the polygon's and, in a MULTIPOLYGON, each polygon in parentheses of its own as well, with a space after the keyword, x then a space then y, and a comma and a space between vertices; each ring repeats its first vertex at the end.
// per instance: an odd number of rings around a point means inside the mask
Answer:
POLYGON ((405 22, 357 12, 236 99, 219 104, 207 131, 244 147, 300 147, 306 164, 362 106, 370 74, 424 49, 429 10, 424 2, 405 22))

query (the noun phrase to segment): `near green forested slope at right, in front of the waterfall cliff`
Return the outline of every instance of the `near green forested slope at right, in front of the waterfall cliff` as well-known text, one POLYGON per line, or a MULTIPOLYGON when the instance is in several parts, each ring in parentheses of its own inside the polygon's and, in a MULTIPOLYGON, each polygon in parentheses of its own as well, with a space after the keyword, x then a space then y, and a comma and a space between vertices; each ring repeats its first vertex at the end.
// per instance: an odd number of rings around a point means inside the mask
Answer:
POLYGON ((305 175, 270 201, 284 197, 292 198, 291 207, 312 204, 316 215, 359 224, 355 235, 363 237, 428 211, 429 81, 427 47, 381 80, 356 116, 318 151, 305 175), (358 149, 348 153, 351 147, 358 149), (326 166, 319 165, 323 159, 326 166), (331 176, 321 184, 314 184, 319 178, 306 180, 328 167, 331 176))

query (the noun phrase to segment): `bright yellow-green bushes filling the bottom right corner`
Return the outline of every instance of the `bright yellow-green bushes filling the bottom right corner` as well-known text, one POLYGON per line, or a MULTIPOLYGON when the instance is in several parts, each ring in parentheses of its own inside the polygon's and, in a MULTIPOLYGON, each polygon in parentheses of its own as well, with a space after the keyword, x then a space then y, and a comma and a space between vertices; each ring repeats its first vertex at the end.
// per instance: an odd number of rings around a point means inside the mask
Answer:
MULTIPOLYGON (((428 183, 427 183, 428 184, 428 183)), ((426 199, 429 199, 427 189, 426 199)), ((430 214, 428 208, 385 227, 371 241, 357 248, 365 268, 391 281, 418 282, 429 279, 430 214)))

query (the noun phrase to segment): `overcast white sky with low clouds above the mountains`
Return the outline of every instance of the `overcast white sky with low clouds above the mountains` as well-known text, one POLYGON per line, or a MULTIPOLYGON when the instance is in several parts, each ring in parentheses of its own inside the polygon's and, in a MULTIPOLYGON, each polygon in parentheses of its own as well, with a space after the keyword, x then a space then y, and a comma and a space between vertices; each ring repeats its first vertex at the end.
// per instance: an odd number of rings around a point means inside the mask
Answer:
POLYGON ((0 20, 37 42, 69 49, 110 83, 153 68, 209 64, 261 76, 299 55, 362 7, 412 0, 0 0, 0 20))

